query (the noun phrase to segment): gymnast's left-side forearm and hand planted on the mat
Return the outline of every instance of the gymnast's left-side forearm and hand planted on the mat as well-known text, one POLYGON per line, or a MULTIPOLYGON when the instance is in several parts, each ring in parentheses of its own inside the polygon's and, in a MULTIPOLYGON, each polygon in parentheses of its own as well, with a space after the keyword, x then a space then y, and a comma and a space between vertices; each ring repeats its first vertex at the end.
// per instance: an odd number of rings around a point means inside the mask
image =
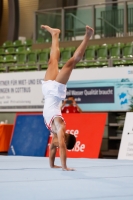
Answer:
POLYGON ((54 145, 53 142, 51 142, 50 149, 49 149, 49 164, 51 168, 62 168, 61 166, 57 166, 54 164, 56 149, 57 147, 54 145))

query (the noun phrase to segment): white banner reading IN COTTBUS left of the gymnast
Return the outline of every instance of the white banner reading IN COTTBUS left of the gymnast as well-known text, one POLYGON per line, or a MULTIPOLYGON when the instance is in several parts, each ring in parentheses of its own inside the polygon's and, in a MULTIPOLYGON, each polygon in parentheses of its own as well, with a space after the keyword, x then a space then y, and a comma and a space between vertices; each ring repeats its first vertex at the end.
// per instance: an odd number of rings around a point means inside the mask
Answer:
POLYGON ((42 111, 44 72, 0 74, 0 111, 42 111))

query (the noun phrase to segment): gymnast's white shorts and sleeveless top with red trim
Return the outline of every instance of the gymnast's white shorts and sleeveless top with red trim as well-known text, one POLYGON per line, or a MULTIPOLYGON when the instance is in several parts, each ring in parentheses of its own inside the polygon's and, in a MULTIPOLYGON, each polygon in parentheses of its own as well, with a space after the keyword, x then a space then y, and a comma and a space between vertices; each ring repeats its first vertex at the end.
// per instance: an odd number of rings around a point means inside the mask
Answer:
POLYGON ((57 81, 42 81, 42 93, 44 96, 43 117, 47 128, 52 132, 51 125, 55 117, 60 117, 61 103, 66 98, 66 85, 57 81))

